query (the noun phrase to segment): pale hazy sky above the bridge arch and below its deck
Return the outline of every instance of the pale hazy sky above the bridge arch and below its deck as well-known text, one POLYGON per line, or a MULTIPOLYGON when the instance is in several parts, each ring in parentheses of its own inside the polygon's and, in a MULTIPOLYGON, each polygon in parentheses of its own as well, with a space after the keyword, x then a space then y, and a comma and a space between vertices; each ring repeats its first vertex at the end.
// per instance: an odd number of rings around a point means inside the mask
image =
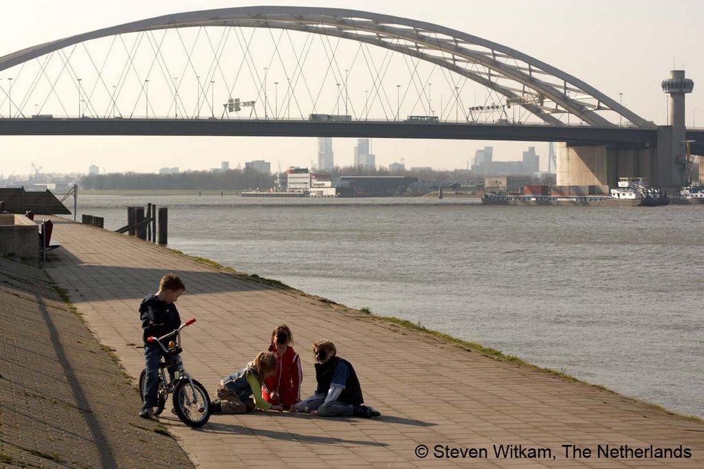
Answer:
MULTIPOLYGON (((425 20, 517 49, 564 70, 622 102, 635 113, 665 123, 666 98, 660 82, 673 64, 694 80, 687 96, 686 123, 704 127, 704 2, 698 0, 497 0, 432 2, 385 0, 238 1, 27 0, 6 2, 0 20, 0 56, 27 46, 157 15, 248 5, 353 8, 425 20)), ((7 71, 0 72, 5 87, 7 71)), ((14 97, 14 96, 13 96, 14 97)), ((0 122, 1 125, 1 122, 0 122)), ((484 141, 401 141, 375 139, 377 165, 405 158, 406 166, 465 167, 474 150, 494 145, 495 159, 513 160, 546 143, 484 141)), ((350 165, 353 139, 334 139, 335 162, 350 165)), ((317 139, 195 137, 0 137, 0 172, 29 174, 31 163, 48 172, 87 172, 91 164, 108 172, 156 172, 237 167, 249 160, 308 166, 317 160, 317 139)), ((543 163, 544 167, 544 163, 543 163)))

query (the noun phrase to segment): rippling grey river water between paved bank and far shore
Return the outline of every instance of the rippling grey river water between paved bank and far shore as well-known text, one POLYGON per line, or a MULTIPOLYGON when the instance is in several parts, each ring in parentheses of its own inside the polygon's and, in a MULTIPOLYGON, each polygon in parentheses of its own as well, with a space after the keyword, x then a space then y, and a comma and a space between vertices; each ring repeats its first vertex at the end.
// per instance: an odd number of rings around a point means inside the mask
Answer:
POLYGON ((81 195, 78 219, 148 202, 170 248, 704 416, 704 205, 81 195))

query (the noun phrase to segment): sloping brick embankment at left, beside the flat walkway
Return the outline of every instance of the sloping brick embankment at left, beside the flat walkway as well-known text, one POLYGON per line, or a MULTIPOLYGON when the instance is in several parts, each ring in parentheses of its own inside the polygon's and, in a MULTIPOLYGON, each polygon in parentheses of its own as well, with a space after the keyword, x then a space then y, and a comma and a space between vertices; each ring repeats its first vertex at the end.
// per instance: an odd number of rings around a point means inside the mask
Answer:
POLYGON ((44 271, 0 259, 1 467, 193 467, 140 406, 44 271))

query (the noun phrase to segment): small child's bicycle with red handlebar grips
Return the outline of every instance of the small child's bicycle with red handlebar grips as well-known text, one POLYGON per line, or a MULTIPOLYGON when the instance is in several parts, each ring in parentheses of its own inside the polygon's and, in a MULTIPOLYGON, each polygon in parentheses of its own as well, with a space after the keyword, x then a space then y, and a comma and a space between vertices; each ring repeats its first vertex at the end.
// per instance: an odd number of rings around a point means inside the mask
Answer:
MULTIPOLYGON (((179 328, 160 338, 150 337, 147 342, 155 342, 165 352, 161 356, 159 363, 159 385, 157 390, 157 404, 153 415, 158 416, 166 406, 166 399, 169 394, 172 396, 173 408, 178 418, 189 427, 198 428, 208 423, 213 409, 210 407, 210 397, 208 391, 198 381, 191 378, 186 372, 181 358, 181 330, 184 327, 190 326, 196 322, 195 319, 189 319, 181 324, 179 328), (163 345, 162 340, 172 338, 175 340, 168 342, 168 347, 163 345), (166 379, 168 371, 169 379, 166 379)), ((139 393, 144 396, 146 388, 146 368, 139 375, 139 393)))

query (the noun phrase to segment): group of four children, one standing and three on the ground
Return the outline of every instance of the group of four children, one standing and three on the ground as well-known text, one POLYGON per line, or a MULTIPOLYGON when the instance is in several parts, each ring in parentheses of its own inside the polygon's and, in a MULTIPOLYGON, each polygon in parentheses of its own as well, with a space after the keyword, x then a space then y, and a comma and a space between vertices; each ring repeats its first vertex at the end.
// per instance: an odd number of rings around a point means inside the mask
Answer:
MULTIPOLYGON (((161 347, 146 342, 146 338, 151 335, 159 337, 164 330, 168 329, 168 333, 180 325, 174 303, 184 290, 178 276, 167 274, 161 279, 159 291, 145 297, 139 307, 147 370, 144 406, 139 412, 143 418, 150 418, 151 408, 156 405, 161 351, 161 347)), ((348 361, 337 356, 337 349, 329 340, 313 342, 318 386, 313 395, 301 400, 303 371, 293 343, 294 337, 288 326, 282 324, 275 328, 267 352, 260 352, 247 366, 220 381, 215 390, 218 399, 210 402, 213 413, 246 413, 260 409, 327 417, 370 418, 380 415, 374 408, 364 405, 357 373, 348 361)))

